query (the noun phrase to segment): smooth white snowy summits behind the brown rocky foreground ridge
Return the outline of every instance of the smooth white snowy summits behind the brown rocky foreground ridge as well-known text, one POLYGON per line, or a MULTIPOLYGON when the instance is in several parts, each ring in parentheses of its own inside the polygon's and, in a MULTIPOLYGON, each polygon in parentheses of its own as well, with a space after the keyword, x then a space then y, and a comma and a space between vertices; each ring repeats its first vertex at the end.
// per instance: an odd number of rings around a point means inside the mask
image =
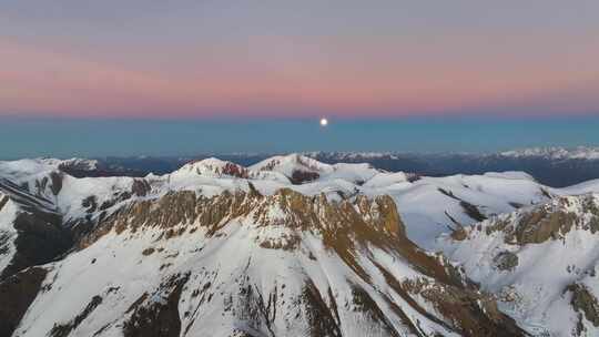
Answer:
POLYGON ((300 154, 274 156, 250 167, 206 159, 187 163, 170 174, 145 178, 77 178, 57 168, 63 162, 0 162, 0 177, 53 202, 69 218, 84 216, 89 206, 83 205, 91 200, 99 208, 112 210, 135 197, 155 198, 173 191, 194 191, 212 196, 224 191, 248 191, 250 183, 265 195, 284 187, 306 195, 325 193, 332 198, 361 193, 388 194, 400 205, 402 215, 409 219, 406 222, 408 236, 430 249, 435 248, 435 237, 454 227, 454 222, 470 225, 480 218, 477 213, 491 216, 546 202, 551 195, 599 191, 596 182, 551 188, 522 172, 419 177, 382 172, 369 164, 326 164, 300 154))

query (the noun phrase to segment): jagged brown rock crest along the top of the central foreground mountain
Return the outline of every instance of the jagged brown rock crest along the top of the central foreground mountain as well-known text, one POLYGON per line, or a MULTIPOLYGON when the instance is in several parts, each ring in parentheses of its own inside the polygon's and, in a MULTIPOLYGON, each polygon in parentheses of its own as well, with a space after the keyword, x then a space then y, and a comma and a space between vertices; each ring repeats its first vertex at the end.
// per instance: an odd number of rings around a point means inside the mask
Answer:
POLYGON ((120 233, 128 227, 136 231, 140 225, 166 231, 200 225, 214 234, 224 223, 244 218, 254 226, 286 227, 297 233, 335 235, 363 227, 388 237, 405 236, 397 207, 388 196, 359 195, 336 202, 324 194, 306 196, 291 188, 264 196, 253 186, 248 192, 224 191, 212 197, 179 191, 158 200, 135 201, 118 211, 104 226, 114 226, 120 233))

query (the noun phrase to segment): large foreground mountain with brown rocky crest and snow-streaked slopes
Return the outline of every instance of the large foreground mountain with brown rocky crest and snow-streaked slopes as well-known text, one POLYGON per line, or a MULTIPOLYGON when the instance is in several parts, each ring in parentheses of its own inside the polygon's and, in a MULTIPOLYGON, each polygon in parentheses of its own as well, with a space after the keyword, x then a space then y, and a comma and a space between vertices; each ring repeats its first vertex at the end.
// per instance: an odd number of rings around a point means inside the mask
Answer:
POLYGON ((0 285, 9 336, 517 336, 390 197, 172 192, 0 285), (28 307, 29 306, 29 307, 28 307))

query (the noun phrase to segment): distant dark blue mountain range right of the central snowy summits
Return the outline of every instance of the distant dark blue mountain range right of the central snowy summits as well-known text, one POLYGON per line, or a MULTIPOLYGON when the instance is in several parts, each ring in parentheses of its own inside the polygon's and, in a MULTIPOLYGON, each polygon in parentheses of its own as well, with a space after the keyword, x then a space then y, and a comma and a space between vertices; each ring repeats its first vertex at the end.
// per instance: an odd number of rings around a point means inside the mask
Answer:
POLYGON ((370 163, 377 168, 429 176, 526 171, 556 187, 599 178, 598 147, 534 147, 502 153, 312 152, 307 155, 325 163, 370 163))

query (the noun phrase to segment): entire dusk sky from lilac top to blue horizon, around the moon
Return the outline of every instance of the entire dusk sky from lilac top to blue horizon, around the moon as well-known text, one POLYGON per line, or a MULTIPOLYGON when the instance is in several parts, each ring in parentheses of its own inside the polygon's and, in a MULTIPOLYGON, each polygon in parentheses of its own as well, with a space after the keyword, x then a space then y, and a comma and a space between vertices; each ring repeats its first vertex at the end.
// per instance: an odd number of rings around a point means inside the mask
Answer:
POLYGON ((0 1, 0 157, 599 145, 598 32, 597 0, 0 1))

